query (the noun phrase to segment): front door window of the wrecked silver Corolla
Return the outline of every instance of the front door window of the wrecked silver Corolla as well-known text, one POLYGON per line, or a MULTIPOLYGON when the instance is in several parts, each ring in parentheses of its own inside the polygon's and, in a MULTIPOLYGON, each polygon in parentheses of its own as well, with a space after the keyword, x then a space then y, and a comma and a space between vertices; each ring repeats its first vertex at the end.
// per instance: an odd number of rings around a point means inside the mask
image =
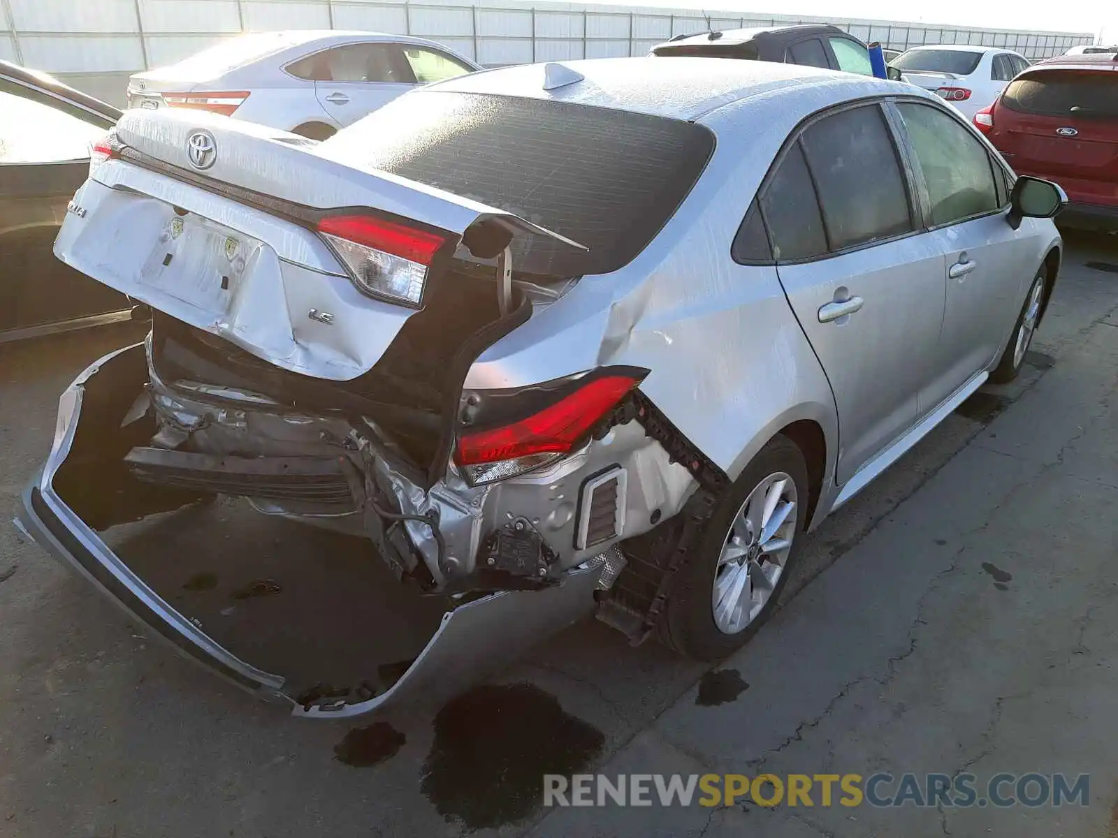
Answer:
POLYGON ((978 137, 938 107, 900 102, 897 109, 928 188, 932 225, 996 211, 992 161, 978 137))

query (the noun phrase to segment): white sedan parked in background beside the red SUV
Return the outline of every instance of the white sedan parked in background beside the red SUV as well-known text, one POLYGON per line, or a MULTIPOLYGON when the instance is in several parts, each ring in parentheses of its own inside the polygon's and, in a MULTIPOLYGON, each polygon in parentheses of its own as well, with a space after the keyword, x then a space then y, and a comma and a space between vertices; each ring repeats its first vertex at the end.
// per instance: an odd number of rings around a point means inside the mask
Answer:
POLYGON ((969 120, 994 104, 1029 59, 1004 47, 937 44, 913 47, 891 64, 906 82, 950 102, 969 120))

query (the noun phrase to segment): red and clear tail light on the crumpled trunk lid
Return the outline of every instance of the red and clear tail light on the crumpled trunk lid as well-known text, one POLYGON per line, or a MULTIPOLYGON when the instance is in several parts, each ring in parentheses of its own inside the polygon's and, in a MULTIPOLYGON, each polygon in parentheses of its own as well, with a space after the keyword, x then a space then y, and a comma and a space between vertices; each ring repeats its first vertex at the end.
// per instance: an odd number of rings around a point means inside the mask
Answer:
POLYGON ((438 234, 371 216, 328 216, 318 231, 359 291, 413 308, 423 303, 432 260, 446 244, 438 234))

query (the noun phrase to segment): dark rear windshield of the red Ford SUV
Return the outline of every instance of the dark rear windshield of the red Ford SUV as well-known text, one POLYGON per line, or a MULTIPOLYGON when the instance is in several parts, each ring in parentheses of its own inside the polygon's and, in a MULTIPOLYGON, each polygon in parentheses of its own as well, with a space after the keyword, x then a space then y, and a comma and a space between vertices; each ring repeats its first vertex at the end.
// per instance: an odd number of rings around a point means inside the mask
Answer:
POLYGON ((1012 82, 1003 104, 1043 116, 1118 117, 1118 74, 1045 70, 1012 82))

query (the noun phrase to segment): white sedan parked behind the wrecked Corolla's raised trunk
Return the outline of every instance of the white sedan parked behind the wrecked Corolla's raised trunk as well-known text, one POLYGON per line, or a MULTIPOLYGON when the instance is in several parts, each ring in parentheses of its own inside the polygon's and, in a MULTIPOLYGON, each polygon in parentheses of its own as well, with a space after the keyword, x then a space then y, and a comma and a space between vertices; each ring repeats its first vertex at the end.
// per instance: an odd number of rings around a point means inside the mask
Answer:
POLYGON ((312 140, 417 85, 481 69, 425 38, 359 31, 243 35, 129 79, 127 106, 186 107, 312 140))

